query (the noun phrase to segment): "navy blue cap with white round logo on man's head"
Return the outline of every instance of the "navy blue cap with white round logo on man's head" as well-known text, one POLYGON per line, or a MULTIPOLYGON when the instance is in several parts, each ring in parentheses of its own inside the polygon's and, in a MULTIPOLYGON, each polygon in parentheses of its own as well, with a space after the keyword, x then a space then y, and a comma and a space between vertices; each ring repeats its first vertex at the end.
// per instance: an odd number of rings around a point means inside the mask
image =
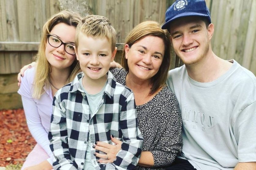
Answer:
POLYGON ((162 29, 169 29, 171 21, 184 16, 203 16, 212 23, 205 0, 176 0, 165 13, 162 29))

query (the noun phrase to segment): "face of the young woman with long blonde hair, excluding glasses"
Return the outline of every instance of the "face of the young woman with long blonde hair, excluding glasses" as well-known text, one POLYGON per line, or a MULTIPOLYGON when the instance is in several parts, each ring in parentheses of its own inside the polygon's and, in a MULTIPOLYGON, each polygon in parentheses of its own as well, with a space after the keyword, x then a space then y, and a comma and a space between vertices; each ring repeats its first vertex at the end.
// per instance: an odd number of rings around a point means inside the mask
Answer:
MULTIPOLYGON (((56 36, 62 42, 74 44, 76 28, 64 23, 55 25, 50 34, 56 36)), ((68 54, 64 49, 64 44, 58 48, 53 47, 47 41, 45 48, 45 56, 52 68, 69 69, 75 60, 75 55, 68 54)))

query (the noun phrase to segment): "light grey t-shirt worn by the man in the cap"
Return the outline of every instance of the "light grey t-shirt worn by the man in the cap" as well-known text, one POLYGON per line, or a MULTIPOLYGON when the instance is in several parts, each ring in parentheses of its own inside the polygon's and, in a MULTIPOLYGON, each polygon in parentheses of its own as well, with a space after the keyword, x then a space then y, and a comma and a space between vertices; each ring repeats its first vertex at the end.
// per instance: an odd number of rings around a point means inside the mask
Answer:
POLYGON ((256 161, 256 78, 235 60, 215 81, 191 79, 185 65, 169 71, 167 85, 182 113, 179 156, 198 170, 231 170, 256 161))

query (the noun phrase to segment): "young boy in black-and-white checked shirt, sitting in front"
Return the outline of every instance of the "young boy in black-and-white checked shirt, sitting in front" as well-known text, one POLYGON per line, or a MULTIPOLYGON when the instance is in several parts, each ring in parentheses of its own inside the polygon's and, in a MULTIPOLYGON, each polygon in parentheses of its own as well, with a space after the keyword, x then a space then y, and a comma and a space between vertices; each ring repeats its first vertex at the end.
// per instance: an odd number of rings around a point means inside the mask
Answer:
MULTIPOLYGON (((83 72, 53 100, 49 140, 55 169, 133 169, 141 154, 134 95, 115 81, 115 29, 103 16, 88 15, 77 26, 76 56, 83 72), (123 140, 113 163, 98 164, 93 143, 123 140)), ((97 151, 98 152, 98 151, 97 151)), ((104 153, 101 153, 104 154, 104 153)), ((108 156, 106 154, 106 159, 108 156)))

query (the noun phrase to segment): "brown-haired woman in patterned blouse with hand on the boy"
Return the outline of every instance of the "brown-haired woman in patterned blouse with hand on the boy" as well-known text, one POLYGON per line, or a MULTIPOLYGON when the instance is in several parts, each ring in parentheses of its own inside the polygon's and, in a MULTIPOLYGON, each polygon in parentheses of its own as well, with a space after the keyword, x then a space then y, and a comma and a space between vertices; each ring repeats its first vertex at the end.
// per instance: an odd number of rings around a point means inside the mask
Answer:
MULTIPOLYGON (((165 85, 170 66, 170 39, 154 21, 138 24, 126 37, 122 66, 111 70, 116 80, 134 92, 138 127, 144 137, 141 157, 135 169, 164 169, 182 149, 181 115, 175 95, 165 85)), ((115 160, 117 145, 95 143, 95 149, 115 160)), ((104 154, 97 157, 106 158, 104 154)))

